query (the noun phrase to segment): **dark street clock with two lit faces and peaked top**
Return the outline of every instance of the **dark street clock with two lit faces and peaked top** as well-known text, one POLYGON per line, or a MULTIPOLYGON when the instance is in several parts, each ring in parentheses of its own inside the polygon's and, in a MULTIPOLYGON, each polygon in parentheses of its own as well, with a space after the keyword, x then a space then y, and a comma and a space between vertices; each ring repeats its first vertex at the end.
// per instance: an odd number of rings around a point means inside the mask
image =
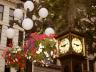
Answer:
POLYGON ((69 32, 58 39, 62 72, 87 72, 84 37, 69 32))

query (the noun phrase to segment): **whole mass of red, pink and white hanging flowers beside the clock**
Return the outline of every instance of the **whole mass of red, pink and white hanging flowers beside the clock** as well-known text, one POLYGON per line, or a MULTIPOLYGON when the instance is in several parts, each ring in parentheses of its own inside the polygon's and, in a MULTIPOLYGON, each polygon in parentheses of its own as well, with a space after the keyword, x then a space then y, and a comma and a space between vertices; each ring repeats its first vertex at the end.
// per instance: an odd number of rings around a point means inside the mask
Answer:
POLYGON ((26 61, 39 62, 48 65, 56 54, 55 35, 32 33, 24 46, 16 48, 6 48, 3 57, 9 66, 16 69, 26 69, 26 61))

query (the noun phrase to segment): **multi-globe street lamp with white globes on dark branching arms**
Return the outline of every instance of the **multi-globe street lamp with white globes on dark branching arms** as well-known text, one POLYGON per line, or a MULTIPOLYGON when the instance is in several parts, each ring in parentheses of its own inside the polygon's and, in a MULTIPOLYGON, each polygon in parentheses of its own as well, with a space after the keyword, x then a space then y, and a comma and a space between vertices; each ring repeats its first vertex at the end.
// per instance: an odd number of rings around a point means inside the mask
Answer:
MULTIPOLYGON (((22 27, 24 30, 31 30, 33 26, 35 25, 36 21, 43 22, 43 19, 45 19, 48 16, 48 10, 46 8, 39 8, 38 15, 39 17, 36 17, 31 12, 34 10, 34 3, 32 1, 26 1, 24 3, 24 10, 17 8, 14 11, 14 21, 12 21, 13 24, 11 25, 11 28, 8 28, 6 31, 6 35, 8 38, 13 38, 15 36, 15 30, 13 28, 14 23, 18 26, 22 27), (22 26, 19 23, 19 20, 21 20, 24 16, 24 19, 22 21, 22 26)), ((51 27, 46 28, 45 34, 50 35, 55 33, 54 29, 51 27)))

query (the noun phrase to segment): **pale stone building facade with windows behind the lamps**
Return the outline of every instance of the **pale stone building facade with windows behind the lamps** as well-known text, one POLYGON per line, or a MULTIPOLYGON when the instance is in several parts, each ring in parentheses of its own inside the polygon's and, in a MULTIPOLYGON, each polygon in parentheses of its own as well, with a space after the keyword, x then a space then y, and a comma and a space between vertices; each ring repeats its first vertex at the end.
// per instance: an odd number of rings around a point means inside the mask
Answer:
POLYGON ((6 37, 6 30, 8 29, 9 21, 13 19, 13 11, 16 8, 16 2, 19 2, 19 0, 0 0, 0 72, 4 72, 5 70, 5 60, 2 54, 8 42, 12 42, 13 46, 18 46, 19 29, 15 27, 16 34, 12 40, 6 37))

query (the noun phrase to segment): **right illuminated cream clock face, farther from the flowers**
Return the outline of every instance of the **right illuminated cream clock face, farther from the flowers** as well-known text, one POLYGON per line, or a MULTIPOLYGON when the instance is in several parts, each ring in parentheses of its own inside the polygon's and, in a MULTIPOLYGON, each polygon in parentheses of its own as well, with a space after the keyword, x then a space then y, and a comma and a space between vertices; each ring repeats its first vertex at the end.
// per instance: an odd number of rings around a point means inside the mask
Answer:
POLYGON ((78 38, 72 39, 72 48, 76 53, 82 52, 82 42, 78 38))

